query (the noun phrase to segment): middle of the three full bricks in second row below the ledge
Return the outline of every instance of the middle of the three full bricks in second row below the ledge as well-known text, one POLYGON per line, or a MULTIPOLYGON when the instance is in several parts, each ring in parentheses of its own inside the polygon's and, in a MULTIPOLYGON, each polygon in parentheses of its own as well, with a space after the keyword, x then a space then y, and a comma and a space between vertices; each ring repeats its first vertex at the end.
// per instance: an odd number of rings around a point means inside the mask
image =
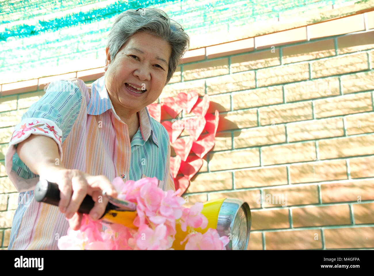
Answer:
POLYGON ((278 66, 257 71, 257 84, 259 87, 303 81, 308 78, 309 66, 307 63, 278 66))

